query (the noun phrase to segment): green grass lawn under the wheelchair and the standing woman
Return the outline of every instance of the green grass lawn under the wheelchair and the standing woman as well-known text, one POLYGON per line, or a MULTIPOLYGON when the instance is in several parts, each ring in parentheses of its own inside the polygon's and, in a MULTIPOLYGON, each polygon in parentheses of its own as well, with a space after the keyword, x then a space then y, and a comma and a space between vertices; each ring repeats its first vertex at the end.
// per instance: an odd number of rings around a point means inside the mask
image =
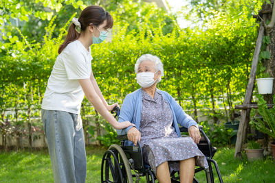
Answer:
MULTIPOLYGON (((105 149, 87 147, 87 181, 100 182, 100 164, 105 149)), ((248 162, 234 159, 234 149, 219 148, 214 156, 224 182, 275 182, 275 164, 271 156, 248 162)), ((205 181, 204 172, 196 177, 205 181)), ((47 150, 0 151, 0 182, 54 182, 47 150)), ((216 176, 216 182, 219 182, 216 176)))

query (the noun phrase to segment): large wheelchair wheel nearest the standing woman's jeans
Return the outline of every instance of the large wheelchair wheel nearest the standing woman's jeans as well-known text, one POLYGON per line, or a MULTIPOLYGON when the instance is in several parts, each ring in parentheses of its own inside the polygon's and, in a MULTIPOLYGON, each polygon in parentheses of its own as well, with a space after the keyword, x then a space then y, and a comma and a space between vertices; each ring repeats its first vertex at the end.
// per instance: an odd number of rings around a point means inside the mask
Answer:
POLYGON ((128 158, 119 145, 111 145, 103 155, 101 182, 133 183, 128 158))

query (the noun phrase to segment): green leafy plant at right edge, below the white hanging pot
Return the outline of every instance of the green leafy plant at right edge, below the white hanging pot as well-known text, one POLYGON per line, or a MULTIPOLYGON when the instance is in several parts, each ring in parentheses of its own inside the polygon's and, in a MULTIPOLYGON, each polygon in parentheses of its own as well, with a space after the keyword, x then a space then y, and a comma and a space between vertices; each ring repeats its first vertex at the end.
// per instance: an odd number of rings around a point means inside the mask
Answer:
MULTIPOLYGON (((275 106, 268 109, 265 99, 262 95, 256 95, 258 98, 257 112, 263 117, 263 120, 257 118, 257 121, 250 121, 250 124, 256 127, 257 130, 269 135, 275 140, 275 106)), ((275 95, 273 97, 275 103, 275 95)), ((254 113, 254 112, 253 112, 254 113)))

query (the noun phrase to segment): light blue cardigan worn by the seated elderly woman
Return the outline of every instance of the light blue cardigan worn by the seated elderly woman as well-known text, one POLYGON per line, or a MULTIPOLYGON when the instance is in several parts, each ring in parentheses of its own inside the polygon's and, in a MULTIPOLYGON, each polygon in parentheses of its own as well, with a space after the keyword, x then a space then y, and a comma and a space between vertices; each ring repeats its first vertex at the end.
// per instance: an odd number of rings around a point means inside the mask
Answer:
MULTIPOLYGON (((158 90, 158 89, 157 89, 158 90)), ((162 97, 169 103, 170 109, 173 114, 173 126, 175 127, 175 131, 177 132, 177 136, 181 136, 179 131, 179 125, 183 127, 187 127, 189 129, 190 126, 197 126, 197 122, 194 121, 188 114, 182 110, 179 103, 173 99, 173 97, 166 93, 165 91, 159 90, 162 94, 162 97), (179 124, 179 125, 177 125, 179 124)), ((133 93, 126 95, 122 108, 120 111, 120 116, 118 117, 118 122, 130 121, 135 124, 137 130, 140 130, 140 120, 142 114, 142 88, 135 90, 133 93)), ((118 135, 127 134, 127 132, 133 126, 129 126, 124 128, 123 130, 117 130, 118 135)), ((133 145, 130 141, 127 141, 125 145, 133 145)))

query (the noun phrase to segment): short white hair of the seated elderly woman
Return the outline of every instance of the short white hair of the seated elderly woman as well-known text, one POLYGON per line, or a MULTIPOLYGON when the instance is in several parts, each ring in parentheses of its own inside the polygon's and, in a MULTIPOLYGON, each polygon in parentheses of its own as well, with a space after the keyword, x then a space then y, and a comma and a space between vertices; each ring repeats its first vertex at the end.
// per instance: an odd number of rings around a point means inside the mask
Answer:
POLYGON ((150 60, 151 62, 155 63, 155 70, 160 71, 160 77, 157 82, 160 82, 162 80, 162 76, 164 76, 164 69, 162 61, 157 56, 153 56, 151 54, 144 54, 140 56, 140 58, 137 58, 137 62, 135 62, 135 73, 137 73, 137 69, 140 66, 140 64, 146 60, 150 60))

